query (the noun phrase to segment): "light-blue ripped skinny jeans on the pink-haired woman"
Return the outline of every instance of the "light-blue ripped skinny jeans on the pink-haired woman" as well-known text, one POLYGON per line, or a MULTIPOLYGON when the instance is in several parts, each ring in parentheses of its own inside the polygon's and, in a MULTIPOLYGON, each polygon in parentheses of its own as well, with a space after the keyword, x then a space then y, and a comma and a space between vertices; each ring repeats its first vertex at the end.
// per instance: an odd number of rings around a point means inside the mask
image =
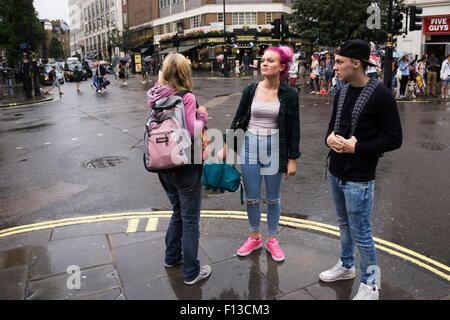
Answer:
POLYGON ((264 177, 267 201, 269 236, 278 234, 280 221, 281 183, 284 173, 279 173, 278 134, 257 136, 247 131, 241 151, 241 171, 247 197, 247 216, 250 232, 259 232, 261 222, 261 184, 264 177))

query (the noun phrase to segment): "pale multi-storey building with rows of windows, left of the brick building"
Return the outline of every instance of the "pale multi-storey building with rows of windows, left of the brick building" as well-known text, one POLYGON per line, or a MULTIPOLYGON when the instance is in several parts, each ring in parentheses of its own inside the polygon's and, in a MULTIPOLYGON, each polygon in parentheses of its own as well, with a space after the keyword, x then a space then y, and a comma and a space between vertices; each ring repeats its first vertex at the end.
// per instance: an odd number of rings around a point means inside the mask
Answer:
POLYGON ((110 43, 113 29, 123 30, 121 0, 81 0, 82 59, 116 59, 123 56, 110 43))

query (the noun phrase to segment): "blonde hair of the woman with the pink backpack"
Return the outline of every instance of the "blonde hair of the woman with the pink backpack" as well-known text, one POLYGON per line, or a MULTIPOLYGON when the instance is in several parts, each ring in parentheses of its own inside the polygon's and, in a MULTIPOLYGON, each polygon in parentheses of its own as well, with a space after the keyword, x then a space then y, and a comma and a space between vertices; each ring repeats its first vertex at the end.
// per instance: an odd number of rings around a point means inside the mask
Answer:
POLYGON ((192 91, 191 68, 186 58, 179 53, 170 53, 164 59, 160 79, 162 85, 192 91))

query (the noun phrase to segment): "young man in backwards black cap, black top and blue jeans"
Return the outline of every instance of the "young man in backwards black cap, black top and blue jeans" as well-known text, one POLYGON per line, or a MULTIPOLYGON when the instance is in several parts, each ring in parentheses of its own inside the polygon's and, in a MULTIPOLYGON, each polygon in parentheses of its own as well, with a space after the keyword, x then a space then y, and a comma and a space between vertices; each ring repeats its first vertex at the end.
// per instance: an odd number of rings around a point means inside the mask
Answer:
POLYGON ((397 103, 379 80, 365 71, 370 47, 362 40, 345 42, 334 70, 342 87, 334 98, 333 113, 325 137, 330 150, 330 186, 340 229, 339 262, 319 275, 333 282, 355 278, 355 245, 360 253, 361 284, 354 300, 378 300, 380 277, 370 218, 378 158, 398 149, 402 129, 397 103), (378 273, 378 274, 377 274, 378 273))

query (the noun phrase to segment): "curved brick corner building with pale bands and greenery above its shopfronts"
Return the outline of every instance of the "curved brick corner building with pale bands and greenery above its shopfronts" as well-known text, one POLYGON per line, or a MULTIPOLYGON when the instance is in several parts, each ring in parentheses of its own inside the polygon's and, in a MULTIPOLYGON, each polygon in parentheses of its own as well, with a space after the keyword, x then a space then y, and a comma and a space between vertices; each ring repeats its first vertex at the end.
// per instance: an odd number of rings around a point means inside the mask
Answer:
POLYGON ((161 60, 178 51, 194 68, 197 62, 209 67, 225 50, 235 60, 244 51, 256 59, 265 47, 279 43, 270 37, 271 22, 292 11, 291 0, 227 0, 225 15, 223 0, 122 0, 122 5, 124 24, 135 32, 134 52, 161 60))

